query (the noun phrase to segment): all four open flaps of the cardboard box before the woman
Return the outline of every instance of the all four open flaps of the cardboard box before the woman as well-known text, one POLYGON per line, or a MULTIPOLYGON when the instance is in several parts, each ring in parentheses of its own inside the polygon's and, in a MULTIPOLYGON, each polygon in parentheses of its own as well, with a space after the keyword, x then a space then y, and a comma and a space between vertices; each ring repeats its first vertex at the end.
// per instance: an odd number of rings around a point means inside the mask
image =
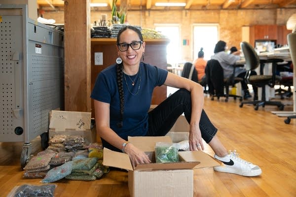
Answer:
MULTIPOLYGON (((170 142, 169 136, 161 137, 129 137, 129 141, 137 146, 142 147, 141 150, 145 149, 145 152, 154 152, 155 143, 170 142), (153 147, 153 149, 152 149, 153 147)), ((135 168, 132 167, 129 156, 125 153, 111 151, 104 148, 103 151, 103 164, 106 166, 118 167, 127 170, 167 170, 167 169, 193 169, 201 167, 210 167, 220 165, 216 160, 214 160, 208 154, 202 151, 181 151, 179 156, 185 162, 178 163, 151 163, 151 164, 138 164, 135 168)))

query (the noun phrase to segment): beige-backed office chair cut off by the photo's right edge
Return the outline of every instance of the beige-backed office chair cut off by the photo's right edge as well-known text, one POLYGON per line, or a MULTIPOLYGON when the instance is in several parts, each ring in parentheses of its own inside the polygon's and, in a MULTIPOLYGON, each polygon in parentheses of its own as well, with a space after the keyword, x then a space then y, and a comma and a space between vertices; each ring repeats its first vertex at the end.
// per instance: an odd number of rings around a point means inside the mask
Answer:
MULTIPOLYGON (((295 80, 295 76, 296 76, 296 32, 294 33, 289 33, 287 36, 287 40, 288 40, 288 45, 289 45, 289 50, 290 50, 290 55, 291 55, 291 59, 292 59, 292 63, 293 63, 293 76, 294 76, 294 80, 295 80)), ((296 81, 293 81, 293 86, 294 86, 294 96, 293 99, 296 99, 296 81)), ((296 113, 296 101, 294 100, 294 112, 296 113)), ((287 119, 284 120, 284 122, 286 124, 289 124, 292 118, 296 118, 296 115, 291 115, 288 116, 287 119)))

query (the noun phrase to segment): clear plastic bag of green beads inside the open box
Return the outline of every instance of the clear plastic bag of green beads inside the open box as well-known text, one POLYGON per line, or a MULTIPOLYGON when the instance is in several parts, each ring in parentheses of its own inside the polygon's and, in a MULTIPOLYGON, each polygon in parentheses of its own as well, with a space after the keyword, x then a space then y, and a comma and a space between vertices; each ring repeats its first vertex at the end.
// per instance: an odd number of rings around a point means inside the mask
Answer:
POLYGON ((179 162, 178 149, 174 143, 156 142, 155 145, 156 163, 179 162))

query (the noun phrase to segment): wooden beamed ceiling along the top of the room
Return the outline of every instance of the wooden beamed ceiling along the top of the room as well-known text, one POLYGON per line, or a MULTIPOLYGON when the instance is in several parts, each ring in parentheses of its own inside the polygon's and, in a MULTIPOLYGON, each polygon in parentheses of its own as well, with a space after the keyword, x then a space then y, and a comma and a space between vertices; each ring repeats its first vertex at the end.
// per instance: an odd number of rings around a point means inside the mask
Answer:
MULTIPOLYGON (((63 10, 67 0, 37 0, 43 10, 63 10)), ((93 3, 108 3, 107 7, 92 7, 96 10, 111 10, 112 0, 90 0, 93 3)), ((271 9, 296 8, 296 0, 117 0, 116 5, 127 4, 128 10, 211 10, 211 9, 271 9), (185 2, 185 7, 158 7, 155 2, 185 2)))

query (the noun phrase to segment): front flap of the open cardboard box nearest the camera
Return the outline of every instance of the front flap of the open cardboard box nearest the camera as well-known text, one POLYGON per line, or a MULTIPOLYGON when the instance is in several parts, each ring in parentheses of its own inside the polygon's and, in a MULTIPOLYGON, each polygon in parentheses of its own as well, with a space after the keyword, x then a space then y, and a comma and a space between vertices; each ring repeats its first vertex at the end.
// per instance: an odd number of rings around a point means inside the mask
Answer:
POLYGON ((173 170, 173 169, 193 169, 200 162, 176 162, 176 163, 151 163, 138 164, 135 170, 173 170))

